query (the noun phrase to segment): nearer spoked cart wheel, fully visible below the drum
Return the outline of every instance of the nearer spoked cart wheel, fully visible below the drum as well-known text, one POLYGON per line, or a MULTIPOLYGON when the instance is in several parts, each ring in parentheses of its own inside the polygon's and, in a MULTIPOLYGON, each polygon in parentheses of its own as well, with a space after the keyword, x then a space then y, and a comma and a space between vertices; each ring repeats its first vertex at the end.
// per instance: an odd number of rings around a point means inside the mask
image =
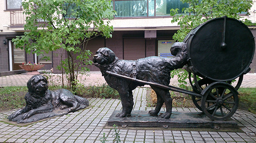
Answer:
POLYGON ((226 82, 209 84, 201 93, 203 95, 201 108, 212 120, 223 121, 230 118, 238 107, 238 92, 226 82), (211 103, 209 107, 208 103, 211 103), (212 111, 213 112, 209 112, 212 111))

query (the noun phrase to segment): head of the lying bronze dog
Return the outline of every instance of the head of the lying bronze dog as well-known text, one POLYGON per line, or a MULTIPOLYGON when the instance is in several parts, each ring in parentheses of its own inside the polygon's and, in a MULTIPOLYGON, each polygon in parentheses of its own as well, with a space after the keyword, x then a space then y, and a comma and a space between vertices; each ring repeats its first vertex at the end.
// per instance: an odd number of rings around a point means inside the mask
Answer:
POLYGON ((42 75, 32 76, 27 82, 29 93, 35 98, 43 97, 48 89, 47 79, 42 75))

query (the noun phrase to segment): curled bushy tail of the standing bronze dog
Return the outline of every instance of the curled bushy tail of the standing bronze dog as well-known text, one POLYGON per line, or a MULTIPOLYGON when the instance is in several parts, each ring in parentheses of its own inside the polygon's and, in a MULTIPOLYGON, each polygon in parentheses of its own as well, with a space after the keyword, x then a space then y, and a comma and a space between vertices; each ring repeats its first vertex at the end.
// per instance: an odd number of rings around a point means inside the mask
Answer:
POLYGON ((184 42, 175 42, 172 45, 170 50, 175 57, 171 58, 169 62, 171 70, 182 68, 187 63, 188 53, 186 48, 186 43, 184 42))

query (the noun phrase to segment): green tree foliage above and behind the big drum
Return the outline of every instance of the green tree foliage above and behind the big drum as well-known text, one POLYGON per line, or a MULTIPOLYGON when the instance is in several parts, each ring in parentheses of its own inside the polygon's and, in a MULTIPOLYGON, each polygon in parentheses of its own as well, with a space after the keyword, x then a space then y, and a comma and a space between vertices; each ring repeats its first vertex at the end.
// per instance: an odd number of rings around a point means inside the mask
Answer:
MULTIPOLYGON (((177 9, 171 9, 172 22, 178 22, 180 30, 174 34, 173 39, 183 41, 185 36, 198 25, 216 17, 227 16, 241 19, 240 13, 251 8, 252 0, 181 0, 188 3, 188 8, 183 8, 184 14, 177 14, 177 9)), ((247 15, 250 15, 247 12, 247 15)), ((246 25, 253 25, 250 20, 242 20, 246 25)))

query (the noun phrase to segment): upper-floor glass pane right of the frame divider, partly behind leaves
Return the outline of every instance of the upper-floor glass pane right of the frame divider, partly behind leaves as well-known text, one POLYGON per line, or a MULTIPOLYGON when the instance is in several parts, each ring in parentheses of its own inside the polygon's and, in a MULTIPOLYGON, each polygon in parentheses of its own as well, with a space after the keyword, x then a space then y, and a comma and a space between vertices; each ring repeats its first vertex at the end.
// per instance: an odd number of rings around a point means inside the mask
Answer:
POLYGON ((180 0, 156 0, 156 16, 170 15, 172 8, 179 8, 181 13, 182 8, 189 7, 187 3, 182 3, 180 0))

